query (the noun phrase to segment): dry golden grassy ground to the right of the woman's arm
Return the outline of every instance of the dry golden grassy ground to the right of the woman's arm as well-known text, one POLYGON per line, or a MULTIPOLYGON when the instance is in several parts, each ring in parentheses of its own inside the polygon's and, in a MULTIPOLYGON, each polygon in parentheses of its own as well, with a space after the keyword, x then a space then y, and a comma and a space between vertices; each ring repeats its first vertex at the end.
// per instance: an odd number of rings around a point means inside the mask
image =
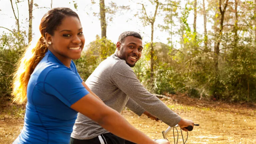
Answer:
MULTIPOLYGON (((168 101, 165 101, 165 104, 182 118, 192 119, 195 123, 200 124, 200 126, 195 126, 193 131, 188 132, 186 144, 256 143, 255 105, 199 101, 182 95, 173 97, 177 101, 175 104, 168 101)), ((152 121, 146 116, 139 118, 129 110, 123 111, 122 115, 152 139, 163 138, 161 131, 168 128, 166 124, 152 121)), ((178 143, 183 143, 180 129, 178 131, 178 143)), ((172 132, 168 139, 171 144, 174 143, 172 132)), ((177 136, 175 139, 177 140, 177 136)))

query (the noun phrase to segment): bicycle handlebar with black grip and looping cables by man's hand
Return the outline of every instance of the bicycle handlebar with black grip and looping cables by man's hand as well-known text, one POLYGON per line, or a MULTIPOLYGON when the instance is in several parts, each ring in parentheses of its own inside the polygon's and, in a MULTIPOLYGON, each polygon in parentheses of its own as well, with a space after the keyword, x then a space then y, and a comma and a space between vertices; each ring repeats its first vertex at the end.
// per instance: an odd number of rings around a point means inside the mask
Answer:
MULTIPOLYGON (((199 124, 194 124, 194 126, 199 126, 199 124)), ((167 139, 167 135, 170 133, 170 130, 173 129, 173 139, 174 139, 174 144, 175 144, 175 136, 174 136, 174 128, 175 128, 176 131, 177 131, 177 134, 178 134, 178 137, 177 137, 177 143, 178 143, 179 133, 178 133, 177 127, 179 127, 178 124, 175 125, 174 127, 170 127, 170 126, 169 126, 165 131, 162 131, 162 134, 163 134, 164 139, 167 139)), ((193 126, 188 126, 188 127, 186 127, 186 129, 187 129, 188 131, 192 131, 192 130, 193 130, 193 126)), ((181 129, 180 129, 180 132, 181 132, 183 144, 185 144, 185 143, 187 142, 187 140, 188 140, 188 132, 187 132, 187 139, 186 139, 185 142, 184 142, 184 138, 183 138, 183 134, 182 134, 182 130, 181 130, 181 129)), ((167 140, 168 140, 168 139, 167 139, 167 140)), ((168 141, 169 141, 169 140, 168 140, 168 141)), ((176 143, 176 144, 177 144, 177 143, 176 143)))

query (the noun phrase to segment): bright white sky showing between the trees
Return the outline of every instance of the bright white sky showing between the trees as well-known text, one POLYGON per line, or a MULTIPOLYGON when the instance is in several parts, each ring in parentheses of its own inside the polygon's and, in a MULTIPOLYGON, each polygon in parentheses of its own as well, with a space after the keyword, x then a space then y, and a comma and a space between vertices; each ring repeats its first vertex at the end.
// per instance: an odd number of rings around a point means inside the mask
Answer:
MULTIPOLYGON (((13 5, 15 7, 15 12, 17 13, 16 5, 13 0, 13 5)), ((100 20, 98 17, 93 16, 93 12, 99 12, 98 4, 91 4, 91 0, 75 0, 78 5, 78 9, 74 9, 73 0, 53 0, 52 7, 69 7, 77 12, 80 17, 81 24, 83 27, 83 32, 85 36, 85 45, 89 44, 91 41, 95 40, 96 35, 101 34, 100 20)), ((98 2, 99 0, 95 0, 98 2)), ((111 22, 107 22, 107 38, 112 42, 116 43, 119 35, 124 31, 136 31, 143 37, 143 42, 149 42, 151 37, 151 27, 142 25, 141 20, 135 17, 134 14, 141 9, 141 5, 136 4, 130 0, 112 0, 117 5, 129 5, 130 11, 123 11, 122 13, 116 13, 111 22)), ((152 6, 147 0, 144 0, 148 6, 146 7, 147 13, 154 12, 155 7, 152 6)), ((110 0, 105 0, 105 5, 108 5, 110 0)), ((33 37, 38 37, 39 24, 43 15, 50 9, 51 0, 34 0, 34 3, 38 4, 39 7, 48 7, 35 9, 33 6, 33 37)), ((200 3, 200 2, 198 2, 200 3)), ((28 31, 28 2, 24 0, 18 4, 19 8, 19 18, 20 25, 22 29, 28 31)), ((11 3, 9 0, 0 0, 0 26, 12 29, 15 27, 14 14, 11 8, 11 3)), ((193 13, 190 14, 188 23, 193 24, 193 13)), ((154 42, 167 43, 167 38, 170 37, 166 32, 160 31, 158 24, 163 24, 163 16, 158 16, 154 25, 154 42)), ((0 33, 6 31, 0 28, 0 33)), ((203 33, 203 17, 198 15, 197 18, 197 31, 203 33)), ((179 37, 173 38, 179 41, 179 37)), ((177 46, 178 47, 178 46, 177 46)))

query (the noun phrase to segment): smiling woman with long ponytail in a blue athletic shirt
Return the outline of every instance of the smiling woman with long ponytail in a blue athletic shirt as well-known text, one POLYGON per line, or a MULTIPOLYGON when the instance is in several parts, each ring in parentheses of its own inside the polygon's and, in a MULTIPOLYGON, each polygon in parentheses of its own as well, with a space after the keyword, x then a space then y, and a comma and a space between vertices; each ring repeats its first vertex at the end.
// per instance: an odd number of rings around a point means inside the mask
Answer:
POLYGON ((68 144, 80 112, 113 134, 135 143, 156 143, 106 106, 80 78, 72 59, 84 47, 78 15, 54 8, 42 18, 41 37, 26 50, 14 76, 14 101, 27 100, 24 127, 14 144, 68 144))

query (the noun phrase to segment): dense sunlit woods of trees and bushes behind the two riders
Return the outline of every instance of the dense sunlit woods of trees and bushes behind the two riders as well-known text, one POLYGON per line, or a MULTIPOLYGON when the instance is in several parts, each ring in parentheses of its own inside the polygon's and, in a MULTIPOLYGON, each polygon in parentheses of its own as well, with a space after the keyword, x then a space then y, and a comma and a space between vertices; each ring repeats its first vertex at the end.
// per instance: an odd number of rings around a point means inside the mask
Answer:
MULTIPOLYGON (((78 6, 76 1, 70 1, 74 8, 78 6)), ((24 28, 20 26, 20 2, 10 0, 10 9, 13 10, 10 16, 15 19, 15 27, 10 29, 0 23, 3 31, 0 34, 2 98, 11 97, 15 63, 33 37, 33 9, 40 8, 37 0, 28 0, 26 12, 29 17, 24 28)), ((99 7, 95 16, 99 18, 101 33, 87 45, 82 57, 75 60, 84 80, 115 51, 115 44, 108 39, 110 31, 107 31, 108 22, 115 18, 111 16, 123 10, 137 11, 131 18, 137 17, 143 26, 151 28, 151 40, 143 41, 142 57, 133 69, 149 91, 185 93, 201 99, 256 101, 256 0, 133 1, 140 7, 136 10, 114 2, 91 2, 99 7), (153 7, 153 13, 148 12, 148 5, 153 7), (189 24, 189 19, 192 19, 192 24, 189 24), (157 25, 155 21, 163 23, 157 25), (156 29, 169 34, 168 43, 154 39, 156 29)), ((54 7, 52 2, 49 9, 51 7, 54 7)), ((86 13, 89 9, 84 11, 86 13)))

